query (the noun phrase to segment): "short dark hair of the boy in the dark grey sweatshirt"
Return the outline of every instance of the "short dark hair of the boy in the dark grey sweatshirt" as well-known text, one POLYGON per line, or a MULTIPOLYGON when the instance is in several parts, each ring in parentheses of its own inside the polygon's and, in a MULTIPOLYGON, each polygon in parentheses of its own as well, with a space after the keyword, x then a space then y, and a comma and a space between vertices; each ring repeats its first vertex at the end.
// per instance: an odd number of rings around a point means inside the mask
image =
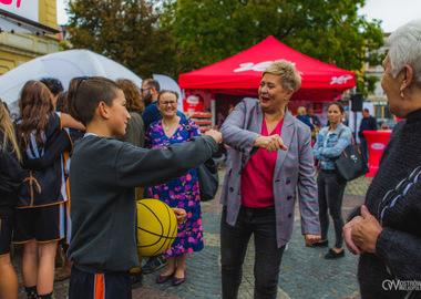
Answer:
POLYGON ((119 84, 103 76, 73 78, 69 84, 68 95, 70 115, 86 126, 92 121, 100 102, 113 105, 117 90, 121 90, 119 84))

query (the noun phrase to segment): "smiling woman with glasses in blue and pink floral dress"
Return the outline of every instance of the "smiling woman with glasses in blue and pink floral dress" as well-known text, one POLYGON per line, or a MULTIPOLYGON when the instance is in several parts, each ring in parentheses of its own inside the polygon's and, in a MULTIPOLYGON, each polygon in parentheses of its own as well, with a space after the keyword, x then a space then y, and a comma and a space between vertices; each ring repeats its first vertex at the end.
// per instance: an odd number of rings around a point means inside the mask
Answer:
MULTIPOLYGON (((201 131, 192 120, 176 115, 177 100, 178 94, 175 92, 162 91, 160 93, 157 107, 163 118, 147 127, 145 135, 146 148, 168 147, 172 144, 185 143, 191 137, 201 135, 201 131)), ((187 254, 199 251, 203 248, 197 171, 191 169, 179 178, 147 188, 145 198, 161 199, 170 207, 184 208, 187 213, 184 224, 178 226, 177 237, 173 245, 164 252, 167 269, 156 278, 157 283, 163 283, 172 278, 173 285, 178 286, 186 278, 185 262, 187 254)))

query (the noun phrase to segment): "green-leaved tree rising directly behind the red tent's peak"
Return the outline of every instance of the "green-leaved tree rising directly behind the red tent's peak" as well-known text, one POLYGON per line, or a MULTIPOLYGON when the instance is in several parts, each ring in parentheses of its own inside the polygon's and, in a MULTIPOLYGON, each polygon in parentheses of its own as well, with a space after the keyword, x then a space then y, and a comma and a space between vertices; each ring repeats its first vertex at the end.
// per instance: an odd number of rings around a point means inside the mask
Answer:
MULTIPOLYGON (((274 35, 288 47, 338 68, 360 72, 380 59, 380 21, 357 14, 364 0, 165 1, 164 27, 175 39, 178 72, 215 63, 274 35)), ((358 90, 367 89, 363 78, 358 90)))

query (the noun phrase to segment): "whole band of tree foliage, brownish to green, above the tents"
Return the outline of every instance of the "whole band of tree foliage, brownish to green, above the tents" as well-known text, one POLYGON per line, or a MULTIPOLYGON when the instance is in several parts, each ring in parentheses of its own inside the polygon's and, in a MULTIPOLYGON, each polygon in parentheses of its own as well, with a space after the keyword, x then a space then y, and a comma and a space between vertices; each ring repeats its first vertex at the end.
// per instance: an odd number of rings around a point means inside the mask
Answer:
MULTIPOLYGON (((215 63, 274 35, 288 47, 362 73, 380 63, 380 21, 357 14, 364 0, 70 0, 70 41, 145 78, 215 63)), ((362 75, 358 90, 373 86, 362 75)))

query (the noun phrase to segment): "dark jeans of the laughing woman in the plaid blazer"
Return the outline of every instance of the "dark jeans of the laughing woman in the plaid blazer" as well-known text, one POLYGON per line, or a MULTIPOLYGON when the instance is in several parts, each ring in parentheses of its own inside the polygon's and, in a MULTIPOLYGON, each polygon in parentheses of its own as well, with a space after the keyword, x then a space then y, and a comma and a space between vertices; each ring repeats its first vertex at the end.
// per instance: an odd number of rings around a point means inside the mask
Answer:
POLYGON ((255 237, 255 298, 276 298, 280 261, 285 246, 276 243, 275 206, 248 208, 242 206, 237 223, 226 223, 224 206, 220 219, 220 264, 223 298, 237 298, 242 283, 243 262, 247 245, 255 237))

